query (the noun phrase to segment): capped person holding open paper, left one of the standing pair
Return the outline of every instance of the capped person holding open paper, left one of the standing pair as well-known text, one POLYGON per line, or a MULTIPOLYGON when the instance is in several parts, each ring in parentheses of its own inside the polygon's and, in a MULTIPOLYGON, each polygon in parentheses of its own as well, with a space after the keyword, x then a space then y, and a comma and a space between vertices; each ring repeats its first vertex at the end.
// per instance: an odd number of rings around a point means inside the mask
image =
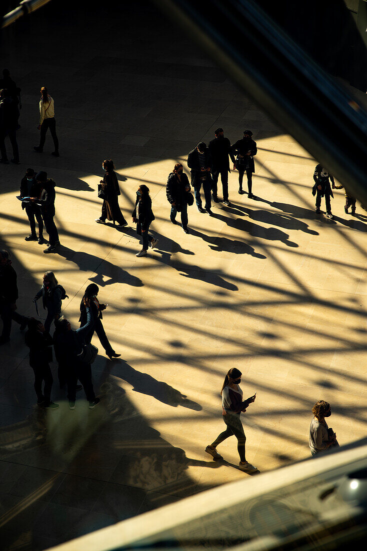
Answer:
MULTIPOLYGON (((40 183, 36 181, 35 171, 33 169, 27 169, 25 171, 25 176, 21 179, 20 182, 20 197, 36 197, 39 199, 41 195, 42 187, 40 183)), ((22 201, 21 208, 25 208, 27 213, 29 225, 31 228, 31 233, 28 237, 25 237, 25 241, 37 241, 41 245, 43 243, 43 220, 41 214, 41 207, 32 201, 22 201), (39 236, 36 234, 36 222, 38 224, 39 236)))

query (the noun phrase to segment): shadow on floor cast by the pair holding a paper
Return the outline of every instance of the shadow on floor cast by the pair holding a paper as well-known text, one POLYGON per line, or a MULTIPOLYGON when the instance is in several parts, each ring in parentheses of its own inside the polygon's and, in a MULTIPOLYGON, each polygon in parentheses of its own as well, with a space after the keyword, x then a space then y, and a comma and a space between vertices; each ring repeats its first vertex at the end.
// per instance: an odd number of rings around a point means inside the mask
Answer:
POLYGON ((96 276, 90 279, 93 283, 105 287, 112 283, 126 283, 133 287, 143 287, 143 282, 136 276, 132 276, 124 269, 112 264, 108 260, 103 260, 84 251, 73 251, 63 245, 59 247, 57 254, 70 262, 74 262, 80 270, 85 272, 96 272, 96 276), (109 277, 103 280, 103 277, 109 277))

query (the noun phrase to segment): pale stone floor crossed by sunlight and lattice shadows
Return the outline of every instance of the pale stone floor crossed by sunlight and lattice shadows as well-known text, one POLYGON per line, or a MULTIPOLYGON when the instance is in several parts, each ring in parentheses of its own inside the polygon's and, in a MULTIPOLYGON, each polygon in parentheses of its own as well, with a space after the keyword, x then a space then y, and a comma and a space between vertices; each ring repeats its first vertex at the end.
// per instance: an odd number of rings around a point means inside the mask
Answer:
MULTIPOLYGON (((245 475, 233 439, 210 460, 223 430, 226 371, 243 372, 247 457, 268 471, 309 456, 311 407, 332 404, 341 444, 366 434, 367 216, 316 216, 315 160, 234 87, 183 31, 150 4, 98 13, 54 0, 3 34, 1 66, 22 88, 21 164, 1 167, 1 247, 18 272, 18 311, 52 269, 78 326, 90 282, 108 302, 108 337, 93 364, 101 404, 67 407, 52 364, 54 411, 35 407, 24 337, 14 324, 1 349, 0 530, 4 549, 45 549, 245 475), (45 33, 45 30, 47 31, 45 33), (47 43, 45 42, 47 38, 47 43), (39 89, 56 106, 61 156, 37 144, 39 89), (190 234, 169 222, 165 184, 177 160, 222 126, 231 142, 254 132, 256 200, 237 193, 213 217, 189 208, 190 234), (131 222, 135 191, 150 188, 158 247, 136 258, 133 226, 96 225, 101 161, 112 158, 131 222), (25 168, 57 182, 57 255, 28 243, 15 199, 25 168)), ((184 165, 187 169, 187 165, 184 165)), ((41 315, 42 317, 42 315, 41 315)), ((97 339, 94 341, 98 345, 97 339)), ((259 479, 260 482, 261 478, 259 479)))

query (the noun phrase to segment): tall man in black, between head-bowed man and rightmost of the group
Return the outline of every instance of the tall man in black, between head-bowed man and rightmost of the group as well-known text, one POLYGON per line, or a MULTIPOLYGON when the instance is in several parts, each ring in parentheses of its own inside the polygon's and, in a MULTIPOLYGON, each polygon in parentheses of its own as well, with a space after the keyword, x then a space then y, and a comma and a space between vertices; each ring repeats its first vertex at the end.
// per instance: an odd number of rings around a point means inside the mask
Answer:
POLYGON ((217 128, 215 131, 215 138, 209 142, 209 151, 212 158, 211 175, 213 179, 213 201, 218 203, 217 197, 217 182, 218 177, 221 175, 222 188, 223 188, 223 203, 229 205, 228 201, 228 172, 231 172, 229 168, 229 157, 231 157, 232 163, 235 164, 234 155, 231 150, 231 142, 228 138, 224 138, 223 128, 217 128))

